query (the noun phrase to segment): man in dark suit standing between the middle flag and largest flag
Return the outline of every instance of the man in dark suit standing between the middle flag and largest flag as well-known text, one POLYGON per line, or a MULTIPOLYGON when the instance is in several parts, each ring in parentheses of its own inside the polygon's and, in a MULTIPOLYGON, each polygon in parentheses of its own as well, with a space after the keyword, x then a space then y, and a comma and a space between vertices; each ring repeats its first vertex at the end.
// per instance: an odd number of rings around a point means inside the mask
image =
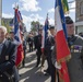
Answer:
POLYGON ((47 63, 48 63, 48 68, 47 70, 45 70, 45 75, 50 74, 51 77, 51 82, 56 82, 56 74, 54 72, 56 72, 56 68, 55 66, 52 65, 52 61, 51 61, 51 51, 54 49, 54 46, 55 46, 55 26, 50 26, 49 27, 49 32, 50 34, 48 34, 48 37, 46 39, 46 45, 45 45, 45 55, 46 55, 46 58, 47 58, 47 63))

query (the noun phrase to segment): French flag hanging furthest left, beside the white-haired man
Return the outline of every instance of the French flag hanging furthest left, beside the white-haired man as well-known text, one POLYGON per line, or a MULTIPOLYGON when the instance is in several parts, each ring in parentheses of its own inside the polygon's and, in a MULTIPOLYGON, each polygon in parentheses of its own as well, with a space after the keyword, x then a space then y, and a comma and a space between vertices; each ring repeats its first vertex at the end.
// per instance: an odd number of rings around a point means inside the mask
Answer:
POLYGON ((21 32, 22 17, 19 9, 14 9, 14 43, 17 45, 16 62, 15 66, 19 67, 23 60, 23 40, 21 32))

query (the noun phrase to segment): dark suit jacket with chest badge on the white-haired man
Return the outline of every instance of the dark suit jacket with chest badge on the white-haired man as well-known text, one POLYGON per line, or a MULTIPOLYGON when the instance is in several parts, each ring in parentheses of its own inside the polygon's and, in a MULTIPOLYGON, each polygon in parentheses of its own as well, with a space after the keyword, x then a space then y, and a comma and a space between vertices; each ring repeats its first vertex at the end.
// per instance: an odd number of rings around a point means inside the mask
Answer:
POLYGON ((0 55, 0 72, 8 72, 11 74, 15 66, 16 46, 10 40, 5 40, 0 55))

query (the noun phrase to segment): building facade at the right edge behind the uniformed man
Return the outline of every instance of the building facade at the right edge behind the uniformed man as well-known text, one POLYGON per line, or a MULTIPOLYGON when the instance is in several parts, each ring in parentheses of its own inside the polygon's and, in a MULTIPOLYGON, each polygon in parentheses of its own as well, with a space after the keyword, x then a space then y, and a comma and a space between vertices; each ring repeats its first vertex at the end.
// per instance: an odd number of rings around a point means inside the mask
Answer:
POLYGON ((75 0, 75 33, 83 33, 83 0, 75 0))

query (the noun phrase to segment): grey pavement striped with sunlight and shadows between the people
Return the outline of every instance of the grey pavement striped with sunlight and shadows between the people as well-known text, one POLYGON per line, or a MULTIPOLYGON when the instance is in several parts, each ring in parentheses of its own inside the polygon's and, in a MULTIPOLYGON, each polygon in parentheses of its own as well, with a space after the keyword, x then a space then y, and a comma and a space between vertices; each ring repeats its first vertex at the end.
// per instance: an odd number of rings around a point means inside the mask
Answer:
MULTIPOLYGON (((20 74, 21 80, 20 82, 50 82, 50 77, 44 75, 43 72, 40 72, 40 67, 35 68, 36 66, 36 55, 35 51, 28 52, 26 55, 26 63, 25 68, 20 68, 20 74)), ((42 69, 47 68, 47 62, 45 61, 45 67, 42 69)))

